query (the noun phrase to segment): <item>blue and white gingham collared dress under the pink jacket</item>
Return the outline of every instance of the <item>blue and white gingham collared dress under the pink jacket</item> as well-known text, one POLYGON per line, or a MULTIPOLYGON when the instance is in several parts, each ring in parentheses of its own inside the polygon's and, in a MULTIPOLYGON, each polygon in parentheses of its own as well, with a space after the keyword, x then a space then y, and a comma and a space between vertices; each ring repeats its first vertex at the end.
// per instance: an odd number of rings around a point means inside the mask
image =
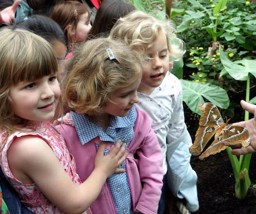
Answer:
MULTIPOLYGON (((112 142, 113 144, 120 139, 121 142, 126 142, 127 147, 134 137, 134 125, 137 117, 135 107, 132 107, 125 117, 111 116, 110 125, 106 132, 87 115, 71 112, 71 116, 82 145, 95 137, 99 137, 101 141, 112 142)), ((97 145, 97 148, 99 148, 99 145, 97 145)), ((109 150, 105 149, 104 155, 107 153, 109 153, 109 150)), ((119 167, 126 168, 125 162, 119 167)), ((107 183, 110 187, 117 214, 134 213, 127 173, 116 173, 107 178, 107 183)))

